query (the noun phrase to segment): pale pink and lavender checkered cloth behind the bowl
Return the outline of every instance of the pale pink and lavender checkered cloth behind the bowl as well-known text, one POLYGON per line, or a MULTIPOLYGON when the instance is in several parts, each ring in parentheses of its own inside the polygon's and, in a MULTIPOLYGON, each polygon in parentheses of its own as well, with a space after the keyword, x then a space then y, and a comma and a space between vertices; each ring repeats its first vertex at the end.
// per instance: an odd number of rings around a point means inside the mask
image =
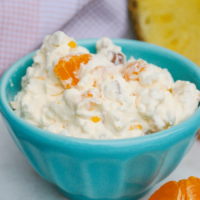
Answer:
POLYGON ((132 38, 127 0, 1 0, 0 77, 57 30, 75 38, 132 38))

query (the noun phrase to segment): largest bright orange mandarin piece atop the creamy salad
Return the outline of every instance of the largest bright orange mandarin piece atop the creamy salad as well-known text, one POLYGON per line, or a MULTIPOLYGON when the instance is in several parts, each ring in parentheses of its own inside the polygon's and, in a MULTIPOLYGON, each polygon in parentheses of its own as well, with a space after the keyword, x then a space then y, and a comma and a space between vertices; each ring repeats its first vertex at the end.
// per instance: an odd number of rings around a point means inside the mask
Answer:
POLYGON ((91 60, 90 54, 68 55, 59 60, 58 64, 54 67, 54 72, 60 78, 62 84, 67 89, 70 89, 79 82, 77 73, 81 64, 87 64, 89 60, 91 60))

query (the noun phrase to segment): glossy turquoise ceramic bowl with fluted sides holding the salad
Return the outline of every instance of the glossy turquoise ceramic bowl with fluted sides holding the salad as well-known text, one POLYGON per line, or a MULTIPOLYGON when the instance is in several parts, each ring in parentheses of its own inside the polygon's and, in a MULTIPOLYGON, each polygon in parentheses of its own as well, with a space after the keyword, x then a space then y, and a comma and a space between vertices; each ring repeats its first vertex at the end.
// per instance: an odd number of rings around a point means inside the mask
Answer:
MULTIPOLYGON (((188 80, 200 89, 199 68, 183 56, 144 42, 113 41, 127 58, 132 55, 167 68, 175 80, 188 80)), ((94 53, 95 42, 78 43, 94 53)), ((35 171, 71 200, 138 199, 177 167, 196 140, 200 108, 168 130, 130 139, 72 138, 28 124, 15 115, 9 101, 21 89, 33 55, 16 62, 2 77, 0 109, 10 135, 35 171)))

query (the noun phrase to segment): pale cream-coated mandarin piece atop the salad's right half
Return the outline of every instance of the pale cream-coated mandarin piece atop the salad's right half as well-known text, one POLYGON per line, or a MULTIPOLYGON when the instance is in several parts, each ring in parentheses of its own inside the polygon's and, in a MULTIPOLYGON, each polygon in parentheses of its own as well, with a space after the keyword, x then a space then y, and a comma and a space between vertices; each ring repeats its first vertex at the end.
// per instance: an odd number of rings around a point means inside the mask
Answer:
POLYGON ((124 79, 126 81, 139 81, 138 74, 145 71, 146 68, 147 65, 143 60, 134 61, 125 68, 124 79))

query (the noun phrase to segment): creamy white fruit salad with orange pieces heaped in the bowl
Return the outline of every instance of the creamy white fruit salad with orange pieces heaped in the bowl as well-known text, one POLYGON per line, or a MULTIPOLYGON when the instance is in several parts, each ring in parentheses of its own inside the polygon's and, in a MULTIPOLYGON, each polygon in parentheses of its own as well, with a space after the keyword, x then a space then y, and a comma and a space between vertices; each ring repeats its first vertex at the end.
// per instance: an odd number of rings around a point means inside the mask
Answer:
POLYGON ((193 83, 174 82, 167 69, 142 59, 126 61, 109 38, 96 49, 89 53, 61 31, 46 36, 10 102, 14 112, 56 134, 120 139, 170 128, 197 109, 193 83))

